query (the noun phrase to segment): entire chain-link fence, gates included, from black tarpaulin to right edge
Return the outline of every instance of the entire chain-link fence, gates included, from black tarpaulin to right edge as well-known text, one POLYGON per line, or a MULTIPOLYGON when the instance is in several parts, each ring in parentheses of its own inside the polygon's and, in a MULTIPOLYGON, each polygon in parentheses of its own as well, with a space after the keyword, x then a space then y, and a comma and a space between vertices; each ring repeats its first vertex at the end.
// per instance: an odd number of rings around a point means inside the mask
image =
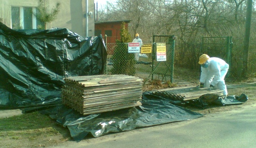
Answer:
MULTIPOLYGON (((222 42, 226 40, 223 39, 222 42)), ((165 41, 157 41, 157 42, 165 42, 165 41)), ((226 49, 224 43, 218 41, 214 44, 207 44, 203 47, 203 51, 207 50, 208 54, 221 57, 225 59, 226 57, 226 49), (222 45, 223 44, 223 45, 222 45), (220 47, 219 47, 220 46, 220 47), (212 49, 212 50, 211 50, 212 49)), ((157 62, 157 60, 152 60, 152 53, 146 54, 146 57, 140 57, 139 62, 135 62, 134 54, 128 53, 128 43, 106 43, 107 49, 107 64, 105 68, 105 74, 118 74, 113 73, 114 71, 119 71, 121 73, 129 73, 135 75, 143 74, 143 78, 151 79, 153 74, 153 79, 158 80, 169 80, 170 77, 170 60, 171 60, 171 44, 166 44, 166 57, 167 61, 165 62, 157 62), (118 52, 116 52, 118 51, 118 52), (115 55, 114 55, 115 54, 115 55), (128 59, 127 59, 128 58, 128 59), (133 59, 133 60, 132 60, 133 59), (135 66, 132 66, 132 65, 135 66), (153 64, 153 67, 152 67, 153 64), (159 65, 155 70, 156 65, 159 65), (116 65, 116 66, 115 66, 116 65), (120 68, 122 70, 118 70, 120 68), (126 68, 124 68, 126 67, 126 68), (152 73, 154 71, 154 73, 152 73)), ((174 71, 177 68, 189 68, 192 71, 200 72, 200 65, 198 64, 199 56, 202 54, 201 43, 175 43, 175 54, 174 54, 174 71)), ((231 67, 230 71, 232 76, 239 75, 241 71, 241 64, 242 64, 242 44, 235 44, 233 46, 232 55, 231 55, 231 67), (240 65, 239 65, 240 64, 240 65)), ((152 48, 153 50, 153 48, 152 48)), ((251 50, 249 55, 249 63, 248 69, 250 74, 255 75, 255 51, 251 50)), ((205 52, 205 51, 204 51, 205 52)), ((153 58, 154 59, 154 58, 153 58)))

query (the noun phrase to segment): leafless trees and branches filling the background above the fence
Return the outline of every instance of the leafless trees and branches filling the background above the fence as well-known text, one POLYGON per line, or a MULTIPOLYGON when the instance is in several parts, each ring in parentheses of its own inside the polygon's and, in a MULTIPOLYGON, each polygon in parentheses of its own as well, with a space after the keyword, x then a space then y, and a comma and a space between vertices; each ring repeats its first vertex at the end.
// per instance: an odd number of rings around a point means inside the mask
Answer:
MULTIPOLYGON (((189 44, 200 43, 202 36, 233 36, 237 42, 244 38, 245 0, 116 0, 109 8, 105 19, 131 20, 129 31, 143 32, 143 42, 152 41, 152 35, 175 34, 187 52, 194 50, 189 44)), ((255 10, 252 15, 251 32, 256 32, 255 10)), ((253 34, 251 40, 255 38, 253 34)), ((243 54, 240 44, 236 48, 233 59, 243 54)))

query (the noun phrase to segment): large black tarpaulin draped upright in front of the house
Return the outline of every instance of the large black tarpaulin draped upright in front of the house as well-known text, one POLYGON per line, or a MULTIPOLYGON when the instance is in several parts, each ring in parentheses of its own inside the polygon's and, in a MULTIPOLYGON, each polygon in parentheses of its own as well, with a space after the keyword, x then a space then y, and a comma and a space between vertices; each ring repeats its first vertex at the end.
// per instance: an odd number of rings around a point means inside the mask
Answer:
POLYGON ((102 36, 68 30, 12 30, 0 23, 0 108, 61 103, 64 77, 103 74, 102 36))

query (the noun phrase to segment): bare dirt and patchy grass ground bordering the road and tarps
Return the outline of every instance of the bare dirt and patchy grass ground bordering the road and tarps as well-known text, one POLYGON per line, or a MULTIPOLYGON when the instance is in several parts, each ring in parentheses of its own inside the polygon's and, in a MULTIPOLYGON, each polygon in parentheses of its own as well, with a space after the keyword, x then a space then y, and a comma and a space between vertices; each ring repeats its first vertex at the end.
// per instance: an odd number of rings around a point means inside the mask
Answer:
MULTIPOLYGON (((187 82, 186 80, 179 79, 175 80, 175 85, 176 86, 196 86, 197 85, 197 80, 195 81, 190 81, 187 82)), ((247 80, 247 81, 241 81, 241 82, 229 82, 227 81, 227 89, 229 95, 236 95, 240 96, 242 93, 245 93, 248 96, 248 101, 240 104, 240 105, 226 105, 226 106, 209 106, 206 109, 199 109, 199 108, 193 108, 193 107, 188 107, 188 109, 198 112, 201 114, 212 114, 212 113, 224 113, 224 112, 232 112, 232 111, 238 111, 238 110, 243 110, 251 106, 256 105, 256 80, 255 78, 252 80, 247 80)), ((152 86, 149 85, 147 89, 158 89, 161 88, 160 86, 152 86), (151 87, 151 88, 150 88, 151 87)), ((9 116, 14 116, 14 115, 20 115, 21 112, 20 110, 2 110, 0 112, 3 117, 9 117, 9 116)), ((67 128, 63 128, 60 125, 56 124, 56 126, 52 127, 54 130, 57 130, 53 135, 45 135, 45 134, 40 134, 40 135, 33 135, 32 133, 23 133, 23 131, 14 131, 14 134, 9 134, 6 135, 4 133, 0 134, 0 143, 2 148, 17 148, 17 147, 54 147, 58 146, 59 144, 64 144, 64 142, 67 141, 73 141, 69 130, 67 128), (23 138, 22 135, 24 134, 30 134, 26 135, 26 138, 23 138)), ((38 129, 40 130, 40 129, 38 129)), ((47 132, 47 130, 52 130, 52 129, 44 129, 44 132, 47 132)), ((115 134, 115 133, 114 133, 115 134)), ((86 141, 88 139, 94 138, 92 136, 87 136, 84 140, 86 141)))

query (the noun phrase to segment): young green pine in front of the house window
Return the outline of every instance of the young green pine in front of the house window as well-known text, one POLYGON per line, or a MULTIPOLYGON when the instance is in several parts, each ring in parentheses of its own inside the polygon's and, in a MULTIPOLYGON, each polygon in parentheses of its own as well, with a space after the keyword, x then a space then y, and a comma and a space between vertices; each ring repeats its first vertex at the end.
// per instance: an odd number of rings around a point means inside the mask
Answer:
POLYGON ((46 4, 46 0, 38 0, 38 6, 37 6, 37 9, 38 9, 38 12, 37 14, 34 14, 36 19, 38 19, 39 21, 41 22, 44 22, 45 24, 45 29, 46 29, 46 23, 47 22, 52 22, 55 18, 56 18, 56 15, 59 13, 60 11, 60 3, 57 2, 56 3, 56 6, 53 7, 50 10, 47 9, 47 4, 46 4))

